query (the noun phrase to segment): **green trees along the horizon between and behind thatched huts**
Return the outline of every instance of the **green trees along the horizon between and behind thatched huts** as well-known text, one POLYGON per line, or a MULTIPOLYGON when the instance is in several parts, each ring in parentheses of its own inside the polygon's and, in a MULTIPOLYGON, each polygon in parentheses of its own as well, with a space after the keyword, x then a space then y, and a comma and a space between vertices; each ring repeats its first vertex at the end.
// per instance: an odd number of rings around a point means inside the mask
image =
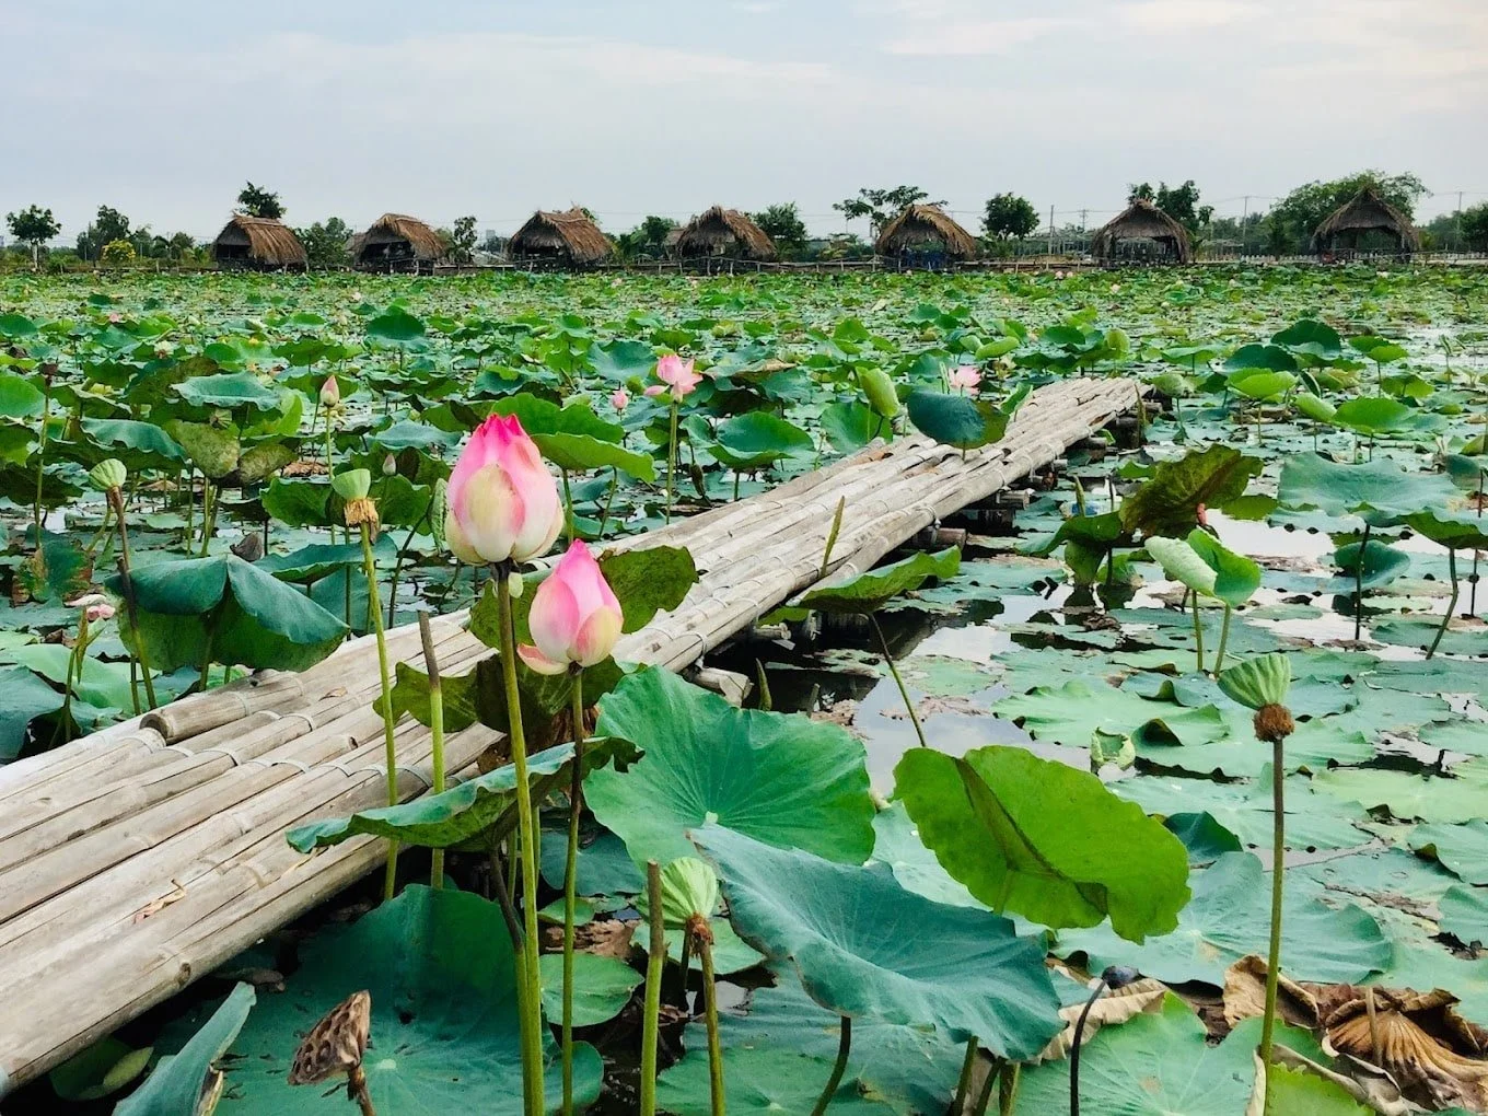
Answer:
MULTIPOLYGON (((1241 217, 1216 217, 1214 207, 1202 202, 1199 187, 1192 179, 1168 186, 1159 182, 1131 183, 1128 202, 1144 199, 1181 223, 1195 248, 1228 248, 1240 254, 1298 254, 1311 248, 1312 231, 1329 213, 1350 201, 1364 186, 1372 186, 1385 201, 1393 204, 1408 219, 1414 220, 1415 207, 1428 193, 1415 174, 1385 174, 1382 171, 1357 171, 1330 182, 1309 182, 1298 186, 1268 210, 1256 208, 1241 217)), ((863 187, 851 198, 833 204, 844 220, 866 220, 870 232, 863 240, 845 231, 830 237, 811 237, 795 202, 778 202, 759 213, 751 213, 765 234, 775 241, 781 259, 856 259, 873 253, 872 241, 893 217, 914 204, 943 205, 931 199, 920 186, 863 187)), ((248 182, 238 192, 237 211, 254 217, 284 217, 280 195, 265 186, 248 182)), ((1003 192, 987 199, 982 211, 982 243, 991 254, 1009 256, 1024 247, 1039 231, 1040 217, 1027 198, 1003 192)), ((6 226, 18 241, 31 265, 40 263, 40 256, 61 234, 61 225, 52 210, 30 205, 6 214, 6 226)), ((668 251, 668 240, 677 222, 670 217, 647 216, 635 228, 613 235, 616 253, 622 262, 661 259, 668 251)), ((1424 248, 1457 248, 1488 251, 1488 202, 1442 214, 1421 229, 1424 248)), ((445 251, 454 262, 470 262, 478 247, 496 253, 504 247, 500 237, 479 241, 476 219, 464 216, 449 228, 436 229, 445 243, 445 251)), ((1061 244, 1088 243, 1092 229, 1085 225, 1064 225, 1051 231, 1061 244)), ((341 217, 327 217, 295 234, 305 246, 311 266, 338 268, 351 262, 353 229, 341 217)), ((173 235, 156 234, 149 225, 132 226, 129 217, 112 205, 100 205, 94 220, 77 234, 76 247, 55 253, 73 254, 86 262, 129 263, 137 259, 159 259, 182 263, 205 263, 210 260, 210 246, 198 244, 186 232, 173 235)))

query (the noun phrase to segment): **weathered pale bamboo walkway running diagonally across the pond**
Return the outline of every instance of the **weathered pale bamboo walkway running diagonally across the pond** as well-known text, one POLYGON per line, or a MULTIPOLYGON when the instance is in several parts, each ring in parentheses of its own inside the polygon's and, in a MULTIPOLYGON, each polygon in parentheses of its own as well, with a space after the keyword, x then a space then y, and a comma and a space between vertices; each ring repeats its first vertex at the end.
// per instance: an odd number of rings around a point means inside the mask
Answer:
MULTIPOLYGON (((702 579, 616 658, 683 670, 812 585, 845 498, 830 574, 987 500, 1135 405, 1131 379, 1040 388, 1006 437, 963 455, 924 439, 873 445, 769 493, 618 543, 687 546, 702 579)), ((484 644, 434 623, 440 671, 484 644)), ((414 626, 388 632, 421 665, 414 626)), ((379 841, 301 856, 292 826, 381 805, 376 647, 348 643, 302 673, 259 676, 0 768, 0 1097, 336 894, 379 841)), ((451 771, 496 740, 445 743, 451 771)), ((429 732, 397 728, 403 798, 430 784, 429 732)))

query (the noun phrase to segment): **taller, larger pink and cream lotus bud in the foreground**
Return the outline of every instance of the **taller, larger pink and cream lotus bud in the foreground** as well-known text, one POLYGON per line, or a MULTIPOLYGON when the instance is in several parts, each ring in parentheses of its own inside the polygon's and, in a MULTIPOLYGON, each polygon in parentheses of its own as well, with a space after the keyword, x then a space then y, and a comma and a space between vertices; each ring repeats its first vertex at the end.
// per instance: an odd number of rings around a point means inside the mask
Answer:
POLYGON ((466 443, 446 493, 445 539, 472 565, 525 562, 562 530, 558 484, 516 415, 491 415, 466 443))

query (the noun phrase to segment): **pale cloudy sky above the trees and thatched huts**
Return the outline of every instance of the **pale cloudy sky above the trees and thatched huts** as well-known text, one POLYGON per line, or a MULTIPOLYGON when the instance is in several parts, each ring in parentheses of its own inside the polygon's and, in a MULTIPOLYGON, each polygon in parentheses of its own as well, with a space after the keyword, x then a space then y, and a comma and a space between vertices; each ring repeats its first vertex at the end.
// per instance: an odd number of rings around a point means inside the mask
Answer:
POLYGON ((0 213, 100 202, 216 232, 246 179, 292 223, 512 231, 918 183, 1104 220, 1128 182, 1219 213, 1415 171, 1488 201, 1488 0, 0 0, 0 213), (126 12, 126 13, 125 13, 126 12))

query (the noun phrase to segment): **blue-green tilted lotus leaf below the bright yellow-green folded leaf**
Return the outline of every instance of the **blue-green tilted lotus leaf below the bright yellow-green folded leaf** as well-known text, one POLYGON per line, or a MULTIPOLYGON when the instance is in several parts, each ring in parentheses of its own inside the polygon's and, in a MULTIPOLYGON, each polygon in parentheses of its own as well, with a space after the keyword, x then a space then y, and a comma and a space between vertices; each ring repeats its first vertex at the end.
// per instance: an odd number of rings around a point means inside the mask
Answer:
POLYGON ((972 1036, 1022 1059, 1061 1028, 1043 946, 985 911, 933 903, 881 869, 763 845, 722 826, 693 830, 714 862, 740 936, 801 973, 806 994, 848 1016, 972 1036))

